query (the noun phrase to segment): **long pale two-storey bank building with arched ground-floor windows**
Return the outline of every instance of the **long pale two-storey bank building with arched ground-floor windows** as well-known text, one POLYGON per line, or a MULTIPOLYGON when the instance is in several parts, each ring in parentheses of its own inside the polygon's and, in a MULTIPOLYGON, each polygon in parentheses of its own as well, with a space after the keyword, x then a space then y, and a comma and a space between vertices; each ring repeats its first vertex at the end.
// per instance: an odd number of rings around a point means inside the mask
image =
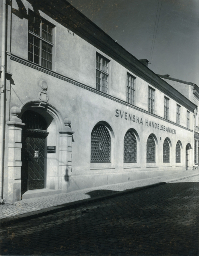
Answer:
POLYGON ((0 6, 1 199, 193 169, 196 105, 146 60, 65 0, 0 6))

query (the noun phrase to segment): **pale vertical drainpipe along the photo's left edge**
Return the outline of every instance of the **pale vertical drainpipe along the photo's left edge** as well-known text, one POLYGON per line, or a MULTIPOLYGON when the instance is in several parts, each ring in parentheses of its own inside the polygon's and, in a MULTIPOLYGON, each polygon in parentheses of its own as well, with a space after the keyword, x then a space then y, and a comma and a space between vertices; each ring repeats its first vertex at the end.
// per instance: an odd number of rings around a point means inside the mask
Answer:
POLYGON ((4 159, 4 105, 6 67, 6 0, 2 3, 2 54, 1 54, 1 102, 0 102, 0 203, 3 204, 3 159, 4 159))

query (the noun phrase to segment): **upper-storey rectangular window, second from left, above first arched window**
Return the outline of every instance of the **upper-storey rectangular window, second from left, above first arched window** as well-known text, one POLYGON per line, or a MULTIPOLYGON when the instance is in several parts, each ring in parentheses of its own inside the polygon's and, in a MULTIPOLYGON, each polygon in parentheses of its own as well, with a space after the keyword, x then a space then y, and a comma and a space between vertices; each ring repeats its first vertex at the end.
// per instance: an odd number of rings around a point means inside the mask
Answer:
POLYGON ((96 54, 96 89, 103 93, 108 93, 108 63, 107 59, 96 54))

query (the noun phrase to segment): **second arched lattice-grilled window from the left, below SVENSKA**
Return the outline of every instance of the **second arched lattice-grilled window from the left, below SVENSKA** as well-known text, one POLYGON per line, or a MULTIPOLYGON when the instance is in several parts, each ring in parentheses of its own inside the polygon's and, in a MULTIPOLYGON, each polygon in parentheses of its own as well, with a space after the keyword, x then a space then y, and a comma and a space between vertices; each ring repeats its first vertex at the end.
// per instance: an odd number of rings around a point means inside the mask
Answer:
POLYGON ((137 140, 135 134, 128 131, 124 137, 124 162, 136 162, 137 140))

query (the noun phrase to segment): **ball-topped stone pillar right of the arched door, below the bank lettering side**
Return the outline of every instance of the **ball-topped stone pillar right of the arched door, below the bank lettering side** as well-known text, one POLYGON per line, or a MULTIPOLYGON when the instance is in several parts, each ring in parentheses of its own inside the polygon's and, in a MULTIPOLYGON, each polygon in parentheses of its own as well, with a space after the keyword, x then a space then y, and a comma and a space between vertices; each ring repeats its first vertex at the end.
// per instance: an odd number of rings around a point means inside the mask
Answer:
POLYGON ((59 131, 59 184, 62 193, 70 192, 72 175, 72 134, 71 121, 64 119, 65 128, 59 131))

